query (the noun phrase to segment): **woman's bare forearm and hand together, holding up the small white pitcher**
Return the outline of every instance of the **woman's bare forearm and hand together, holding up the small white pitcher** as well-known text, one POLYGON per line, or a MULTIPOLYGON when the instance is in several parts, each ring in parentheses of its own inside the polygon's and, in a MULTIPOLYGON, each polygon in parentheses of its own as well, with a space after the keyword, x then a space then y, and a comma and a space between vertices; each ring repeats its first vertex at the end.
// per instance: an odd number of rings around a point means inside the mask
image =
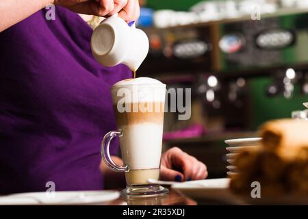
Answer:
POLYGON ((49 4, 96 16, 111 16, 119 12, 127 22, 136 21, 140 14, 138 0, 0 0, 0 32, 49 4))

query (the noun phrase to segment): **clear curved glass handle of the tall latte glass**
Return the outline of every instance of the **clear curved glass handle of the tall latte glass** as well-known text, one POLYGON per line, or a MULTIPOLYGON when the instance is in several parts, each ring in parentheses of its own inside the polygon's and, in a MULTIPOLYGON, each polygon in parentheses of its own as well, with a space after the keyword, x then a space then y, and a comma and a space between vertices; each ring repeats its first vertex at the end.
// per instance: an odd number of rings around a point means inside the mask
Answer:
POLYGON ((103 158, 107 167, 116 172, 128 172, 129 171, 128 165, 120 166, 114 163, 114 161, 112 160, 110 156, 110 151, 109 151, 110 142, 112 141, 114 137, 122 137, 122 136, 123 136, 122 131, 110 131, 107 134, 105 134, 103 141, 101 142, 101 157, 103 158))

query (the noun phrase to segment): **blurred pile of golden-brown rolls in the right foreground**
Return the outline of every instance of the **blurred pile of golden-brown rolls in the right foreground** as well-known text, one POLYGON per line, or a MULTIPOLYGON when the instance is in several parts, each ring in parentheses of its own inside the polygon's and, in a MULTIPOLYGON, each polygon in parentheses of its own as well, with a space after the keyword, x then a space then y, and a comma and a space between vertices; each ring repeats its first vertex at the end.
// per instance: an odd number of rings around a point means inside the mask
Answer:
POLYGON ((265 196, 307 196, 308 121, 270 121, 261 127, 261 137, 259 149, 242 151, 235 159, 239 172, 231 177, 231 190, 247 194, 259 181, 265 196))

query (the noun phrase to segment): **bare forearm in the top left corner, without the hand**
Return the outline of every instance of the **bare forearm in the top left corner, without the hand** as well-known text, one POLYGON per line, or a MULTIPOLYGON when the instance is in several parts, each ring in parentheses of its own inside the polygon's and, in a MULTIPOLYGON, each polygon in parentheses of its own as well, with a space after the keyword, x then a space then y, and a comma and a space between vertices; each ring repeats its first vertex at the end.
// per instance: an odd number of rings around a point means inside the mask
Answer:
POLYGON ((1 0, 0 32, 52 3, 53 0, 1 0))

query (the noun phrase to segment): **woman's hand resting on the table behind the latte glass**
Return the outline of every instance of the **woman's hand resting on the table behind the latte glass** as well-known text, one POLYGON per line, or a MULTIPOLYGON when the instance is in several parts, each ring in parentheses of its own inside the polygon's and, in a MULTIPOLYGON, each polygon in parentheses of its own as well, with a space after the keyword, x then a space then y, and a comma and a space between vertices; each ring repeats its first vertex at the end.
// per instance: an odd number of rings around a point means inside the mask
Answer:
POLYGON ((168 181, 205 179, 207 167, 177 147, 162 154, 161 178, 168 181))

